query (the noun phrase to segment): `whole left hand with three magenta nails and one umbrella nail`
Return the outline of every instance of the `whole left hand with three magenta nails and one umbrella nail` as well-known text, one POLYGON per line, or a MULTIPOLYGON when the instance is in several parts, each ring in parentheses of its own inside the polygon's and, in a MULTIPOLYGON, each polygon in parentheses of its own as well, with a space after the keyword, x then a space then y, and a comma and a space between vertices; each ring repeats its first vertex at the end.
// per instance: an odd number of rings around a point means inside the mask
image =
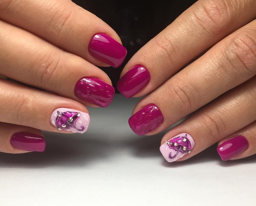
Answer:
POLYGON ((0 75, 18 81, 0 79, 0 152, 44 151, 40 130, 84 133, 84 104, 107 107, 114 95, 94 65, 121 65, 120 42, 71 0, 0 0, 0 75))

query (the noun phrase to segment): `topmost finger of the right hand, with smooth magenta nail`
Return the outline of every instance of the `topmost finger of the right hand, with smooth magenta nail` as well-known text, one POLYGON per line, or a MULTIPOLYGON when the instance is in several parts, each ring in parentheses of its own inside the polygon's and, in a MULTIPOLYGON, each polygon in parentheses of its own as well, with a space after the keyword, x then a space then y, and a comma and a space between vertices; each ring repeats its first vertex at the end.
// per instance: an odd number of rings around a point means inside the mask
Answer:
POLYGON ((131 58, 118 90, 125 97, 153 91, 192 59, 254 20, 255 8, 255 0, 198 0, 131 58), (143 65, 143 72, 137 65, 143 65))

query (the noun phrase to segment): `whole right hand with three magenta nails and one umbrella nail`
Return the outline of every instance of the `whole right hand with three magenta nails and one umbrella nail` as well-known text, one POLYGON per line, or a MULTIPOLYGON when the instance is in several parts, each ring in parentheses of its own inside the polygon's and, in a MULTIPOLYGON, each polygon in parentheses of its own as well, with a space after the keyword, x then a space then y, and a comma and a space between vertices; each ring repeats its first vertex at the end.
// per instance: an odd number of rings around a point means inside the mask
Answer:
POLYGON ((123 69, 119 91, 147 95, 129 119, 136 134, 154 135, 192 113, 164 135, 167 161, 218 141, 224 161, 256 153, 255 18, 255 0, 198 0, 123 69))

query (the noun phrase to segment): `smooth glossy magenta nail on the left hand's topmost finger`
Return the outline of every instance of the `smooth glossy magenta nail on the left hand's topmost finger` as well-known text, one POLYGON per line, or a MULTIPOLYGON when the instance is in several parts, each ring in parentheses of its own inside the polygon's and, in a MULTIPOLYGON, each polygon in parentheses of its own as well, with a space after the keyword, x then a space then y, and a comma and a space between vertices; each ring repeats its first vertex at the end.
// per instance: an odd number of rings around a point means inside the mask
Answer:
POLYGON ((89 52, 115 68, 122 64, 127 54, 125 47, 107 34, 95 34, 89 43, 89 52))

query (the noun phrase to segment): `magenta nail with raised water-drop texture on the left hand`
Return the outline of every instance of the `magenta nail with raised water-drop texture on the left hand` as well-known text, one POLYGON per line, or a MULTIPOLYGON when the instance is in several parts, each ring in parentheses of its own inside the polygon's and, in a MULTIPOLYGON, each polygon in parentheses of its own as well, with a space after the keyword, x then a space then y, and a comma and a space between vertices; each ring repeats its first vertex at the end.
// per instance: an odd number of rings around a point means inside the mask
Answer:
POLYGON ((100 79, 83 77, 76 83, 74 92, 79 99, 99 107, 108 107, 112 102, 115 89, 100 79))

